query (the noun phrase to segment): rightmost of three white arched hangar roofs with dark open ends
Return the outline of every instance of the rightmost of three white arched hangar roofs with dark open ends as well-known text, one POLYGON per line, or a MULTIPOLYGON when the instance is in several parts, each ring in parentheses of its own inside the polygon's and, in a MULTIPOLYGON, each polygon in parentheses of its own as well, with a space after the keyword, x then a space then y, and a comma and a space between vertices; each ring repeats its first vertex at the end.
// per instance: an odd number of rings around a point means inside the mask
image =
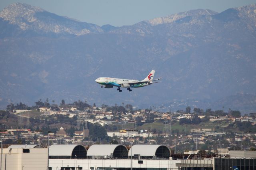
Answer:
POLYGON ((165 145, 158 144, 135 144, 128 153, 128 156, 156 156, 156 157, 170 157, 170 149, 165 145))

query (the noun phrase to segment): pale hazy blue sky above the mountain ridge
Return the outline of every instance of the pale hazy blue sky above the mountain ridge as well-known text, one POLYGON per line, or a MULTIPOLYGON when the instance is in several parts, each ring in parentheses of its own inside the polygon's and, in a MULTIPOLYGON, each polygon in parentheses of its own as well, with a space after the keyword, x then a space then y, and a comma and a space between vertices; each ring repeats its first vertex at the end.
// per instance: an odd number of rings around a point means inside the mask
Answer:
POLYGON ((0 10, 15 2, 99 26, 123 26, 198 8, 222 12, 256 0, 0 0, 0 10))

